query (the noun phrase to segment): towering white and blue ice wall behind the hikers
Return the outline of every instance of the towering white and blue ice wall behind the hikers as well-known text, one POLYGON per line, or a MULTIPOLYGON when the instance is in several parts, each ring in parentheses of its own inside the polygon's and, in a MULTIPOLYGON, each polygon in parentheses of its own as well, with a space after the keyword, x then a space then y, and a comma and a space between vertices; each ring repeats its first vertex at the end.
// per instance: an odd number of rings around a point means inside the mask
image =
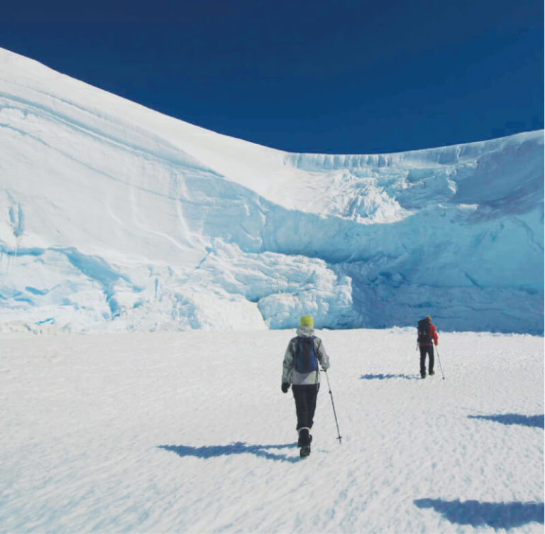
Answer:
POLYGON ((192 126, 0 50, 4 329, 543 332, 543 132, 370 156, 192 126))

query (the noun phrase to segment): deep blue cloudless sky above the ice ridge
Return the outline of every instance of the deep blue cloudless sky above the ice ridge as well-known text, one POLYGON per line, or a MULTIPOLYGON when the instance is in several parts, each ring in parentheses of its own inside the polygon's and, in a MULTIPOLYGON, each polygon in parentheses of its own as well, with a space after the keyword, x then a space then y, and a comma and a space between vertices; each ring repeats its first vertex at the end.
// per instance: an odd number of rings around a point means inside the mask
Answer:
POLYGON ((34 4, 2 7, 1 47, 282 150, 405 151, 544 127, 542 0, 34 4))

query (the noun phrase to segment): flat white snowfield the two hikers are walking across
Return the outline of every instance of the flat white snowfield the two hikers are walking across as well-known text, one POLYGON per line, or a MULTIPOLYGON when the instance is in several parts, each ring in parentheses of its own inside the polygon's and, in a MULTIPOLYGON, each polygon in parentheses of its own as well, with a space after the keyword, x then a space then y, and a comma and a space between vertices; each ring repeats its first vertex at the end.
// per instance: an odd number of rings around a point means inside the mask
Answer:
POLYGON ((544 347, 414 329, 321 331, 299 460, 280 391, 294 332, 8 336, 0 531, 543 532, 544 347))

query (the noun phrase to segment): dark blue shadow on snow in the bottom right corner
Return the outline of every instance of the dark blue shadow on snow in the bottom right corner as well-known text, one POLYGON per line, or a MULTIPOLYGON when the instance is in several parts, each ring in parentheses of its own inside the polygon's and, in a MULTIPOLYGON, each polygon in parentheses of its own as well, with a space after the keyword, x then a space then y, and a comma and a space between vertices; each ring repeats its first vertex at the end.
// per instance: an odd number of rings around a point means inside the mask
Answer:
POLYGON ((526 523, 544 523, 544 503, 481 503, 480 501, 444 501, 441 498, 418 498, 419 508, 433 508, 451 523, 471 525, 473 528, 488 525, 499 528, 517 528, 526 523))

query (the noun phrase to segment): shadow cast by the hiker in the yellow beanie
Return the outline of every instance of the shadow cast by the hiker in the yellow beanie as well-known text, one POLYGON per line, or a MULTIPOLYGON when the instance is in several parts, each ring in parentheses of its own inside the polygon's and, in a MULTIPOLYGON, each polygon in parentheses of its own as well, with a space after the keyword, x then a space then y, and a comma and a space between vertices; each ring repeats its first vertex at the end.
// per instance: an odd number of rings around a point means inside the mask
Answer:
POLYGON ((229 445, 210 445, 204 447, 189 447, 187 445, 159 445, 159 449, 175 452, 182 458, 193 456, 196 458, 215 458, 230 456, 231 454, 255 454, 260 458, 276 460, 277 462, 299 462, 299 456, 290 457, 287 454, 270 452, 271 450, 297 447, 297 443, 285 445, 247 445, 245 442, 233 442, 229 445))

